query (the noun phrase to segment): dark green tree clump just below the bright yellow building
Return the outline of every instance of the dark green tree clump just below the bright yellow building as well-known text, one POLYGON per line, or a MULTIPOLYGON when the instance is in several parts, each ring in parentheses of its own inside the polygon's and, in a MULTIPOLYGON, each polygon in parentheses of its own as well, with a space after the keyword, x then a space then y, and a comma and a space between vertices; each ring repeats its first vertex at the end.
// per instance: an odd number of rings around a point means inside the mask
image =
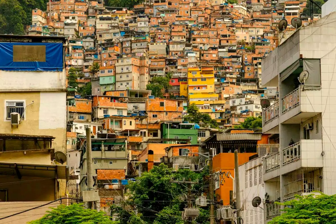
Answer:
POLYGON ((202 121, 206 126, 210 125, 211 128, 218 128, 216 120, 212 119, 207 113, 199 112, 198 107, 194 103, 188 106, 187 113, 186 118, 191 123, 200 123, 202 121))

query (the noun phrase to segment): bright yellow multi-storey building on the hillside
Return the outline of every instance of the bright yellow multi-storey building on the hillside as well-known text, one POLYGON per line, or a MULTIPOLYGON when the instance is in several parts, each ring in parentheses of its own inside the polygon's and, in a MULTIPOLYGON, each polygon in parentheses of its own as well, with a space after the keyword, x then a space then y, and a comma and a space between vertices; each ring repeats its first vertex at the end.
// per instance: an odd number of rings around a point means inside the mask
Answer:
POLYGON ((204 101, 218 100, 215 94, 215 75, 214 69, 189 68, 188 69, 188 100, 189 103, 204 104, 204 101))

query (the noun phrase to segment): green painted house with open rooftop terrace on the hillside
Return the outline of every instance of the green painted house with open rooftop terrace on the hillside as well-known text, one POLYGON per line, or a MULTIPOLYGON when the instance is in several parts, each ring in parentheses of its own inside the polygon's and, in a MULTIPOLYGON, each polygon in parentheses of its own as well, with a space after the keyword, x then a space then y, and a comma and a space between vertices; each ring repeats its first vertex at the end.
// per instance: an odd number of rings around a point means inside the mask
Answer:
POLYGON ((162 124, 163 139, 190 139, 192 145, 197 144, 197 129, 194 123, 165 122, 162 124))

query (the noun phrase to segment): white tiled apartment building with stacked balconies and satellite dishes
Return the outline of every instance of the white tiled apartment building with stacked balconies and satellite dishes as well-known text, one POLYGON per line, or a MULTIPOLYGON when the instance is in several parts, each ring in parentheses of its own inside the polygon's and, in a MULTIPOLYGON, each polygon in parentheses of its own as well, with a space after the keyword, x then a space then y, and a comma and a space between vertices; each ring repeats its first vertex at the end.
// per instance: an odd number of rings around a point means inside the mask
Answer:
MULTIPOLYGON (((270 201, 312 191, 336 194, 335 19, 332 12, 298 29, 262 60, 262 85, 279 90, 279 101, 262 115, 263 133, 280 138, 279 151, 263 158, 270 201), (309 77, 302 85, 298 76, 304 70, 309 77)), ((280 215, 276 208, 264 212, 265 222, 280 215)))

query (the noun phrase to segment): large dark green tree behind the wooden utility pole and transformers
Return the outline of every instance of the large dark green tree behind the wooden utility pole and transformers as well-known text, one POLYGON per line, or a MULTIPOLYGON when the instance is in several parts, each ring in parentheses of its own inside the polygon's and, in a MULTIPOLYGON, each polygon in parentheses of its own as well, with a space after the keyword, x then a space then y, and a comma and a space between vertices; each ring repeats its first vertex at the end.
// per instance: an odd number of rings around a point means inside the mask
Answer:
MULTIPOLYGON (((199 184, 192 185, 192 201, 195 202, 196 197, 207 190, 207 187, 202 186, 208 186, 208 180, 205 178, 208 174, 208 169, 202 173, 188 169, 172 172, 172 169, 163 163, 154 166, 149 172, 137 177, 137 181, 129 184, 129 200, 125 201, 124 206, 113 204, 111 214, 118 214, 116 220, 119 220, 120 224, 183 224, 181 214, 183 208, 186 208, 185 195, 188 189, 185 184, 172 183, 170 180, 198 180, 199 184), (130 211, 130 208, 136 208, 137 214, 130 211)), ((200 216, 193 223, 208 224, 208 219, 208 208, 200 208, 200 216)))

